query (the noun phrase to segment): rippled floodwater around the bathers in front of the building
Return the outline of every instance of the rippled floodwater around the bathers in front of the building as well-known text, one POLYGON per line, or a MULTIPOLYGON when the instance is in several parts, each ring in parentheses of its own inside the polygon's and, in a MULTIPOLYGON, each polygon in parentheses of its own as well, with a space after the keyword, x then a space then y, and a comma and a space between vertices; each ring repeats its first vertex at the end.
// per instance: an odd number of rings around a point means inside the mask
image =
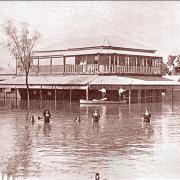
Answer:
POLYGON ((180 103, 96 105, 33 101, 0 102, 0 179, 101 180, 180 179, 180 103), (142 126, 145 107, 151 127, 142 126), (30 125, 49 108, 49 125, 30 125), (73 120, 81 116, 81 123, 73 120))

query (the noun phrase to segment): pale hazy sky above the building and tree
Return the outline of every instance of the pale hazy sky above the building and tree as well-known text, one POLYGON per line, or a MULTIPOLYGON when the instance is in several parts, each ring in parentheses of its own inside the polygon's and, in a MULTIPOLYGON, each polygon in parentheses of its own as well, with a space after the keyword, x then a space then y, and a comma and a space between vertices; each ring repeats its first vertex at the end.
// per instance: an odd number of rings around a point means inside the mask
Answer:
POLYGON ((180 54, 178 1, 1 1, 2 67, 15 62, 3 46, 7 20, 40 32, 35 50, 102 45, 108 37, 112 46, 156 49, 165 61, 180 54))

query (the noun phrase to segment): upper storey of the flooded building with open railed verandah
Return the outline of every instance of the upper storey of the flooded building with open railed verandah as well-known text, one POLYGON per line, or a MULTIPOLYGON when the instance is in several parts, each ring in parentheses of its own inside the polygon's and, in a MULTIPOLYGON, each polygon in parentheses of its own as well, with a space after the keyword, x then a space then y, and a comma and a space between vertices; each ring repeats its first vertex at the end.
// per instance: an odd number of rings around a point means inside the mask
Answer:
MULTIPOLYGON (((31 74, 161 75, 155 50, 111 46, 36 51, 31 74)), ((17 66, 17 73, 23 68, 17 66)))

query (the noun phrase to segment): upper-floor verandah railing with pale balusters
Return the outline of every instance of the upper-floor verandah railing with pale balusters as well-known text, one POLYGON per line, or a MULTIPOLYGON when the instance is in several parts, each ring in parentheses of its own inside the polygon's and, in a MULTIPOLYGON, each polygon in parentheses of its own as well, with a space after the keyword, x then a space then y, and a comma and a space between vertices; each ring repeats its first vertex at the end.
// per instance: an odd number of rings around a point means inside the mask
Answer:
MULTIPOLYGON (((23 73, 19 69, 18 73, 23 73)), ((120 66, 120 65, 41 65, 32 66, 31 74, 160 74, 160 67, 120 66)))

